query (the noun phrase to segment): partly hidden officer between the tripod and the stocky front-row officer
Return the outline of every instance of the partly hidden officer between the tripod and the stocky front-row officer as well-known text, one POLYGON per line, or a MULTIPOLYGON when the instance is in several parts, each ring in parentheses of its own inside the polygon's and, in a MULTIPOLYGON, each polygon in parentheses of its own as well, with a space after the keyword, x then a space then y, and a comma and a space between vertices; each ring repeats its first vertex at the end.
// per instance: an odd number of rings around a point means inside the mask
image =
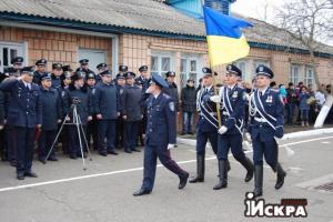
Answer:
MULTIPOLYGON (((87 74, 87 77, 85 77, 87 84, 88 84, 88 90, 89 90, 89 95, 91 97, 92 104, 95 103, 95 84, 97 84, 95 78, 98 78, 98 75, 95 75, 92 72, 87 74)), ((97 119, 95 115, 97 115, 97 112, 95 112, 94 107, 93 107, 92 120, 88 123, 88 129, 87 129, 88 144, 91 144, 90 140, 92 138, 93 150, 99 149, 99 143, 98 143, 98 138, 99 138, 98 119, 97 119)))

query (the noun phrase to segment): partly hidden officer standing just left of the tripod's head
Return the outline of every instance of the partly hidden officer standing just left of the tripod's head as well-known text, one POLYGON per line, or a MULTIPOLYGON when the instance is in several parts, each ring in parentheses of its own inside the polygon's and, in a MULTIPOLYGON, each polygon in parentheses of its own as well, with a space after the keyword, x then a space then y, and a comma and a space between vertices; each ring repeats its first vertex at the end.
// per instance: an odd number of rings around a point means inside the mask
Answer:
MULTIPOLYGON (((61 87, 59 88, 59 94, 60 94, 60 99, 61 99, 61 110, 62 110, 62 117, 64 118, 69 110, 69 101, 68 101, 68 98, 69 98, 69 85, 72 81, 71 79, 71 72, 70 72, 70 68, 68 65, 64 65, 62 68, 63 70, 63 73, 61 74, 60 77, 60 80, 61 80, 61 87)), ((61 123, 63 122, 64 119, 62 119, 61 123)), ((58 125, 59 129, 61 128, 61 124, 58 125)), ((59 141, 61 142, 61 148, 62 148, 62 152, 64 154, 68 154, 69 153, 69 147, 70 147, 70 125, 63 125, 63 129, 60 133, 60 137, 59 137, 59 141)))

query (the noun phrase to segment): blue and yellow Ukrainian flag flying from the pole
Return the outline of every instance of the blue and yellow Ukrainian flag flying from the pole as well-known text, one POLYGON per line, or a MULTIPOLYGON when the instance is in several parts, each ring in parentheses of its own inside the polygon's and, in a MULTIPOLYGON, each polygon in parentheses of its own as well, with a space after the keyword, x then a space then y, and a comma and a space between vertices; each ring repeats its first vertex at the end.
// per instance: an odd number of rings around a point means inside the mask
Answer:
POLYGON ((203 14, 211 67, 226 64, 249 54, 250 47, 240 28, 252 27, 251 23, 204 6, 203 14))

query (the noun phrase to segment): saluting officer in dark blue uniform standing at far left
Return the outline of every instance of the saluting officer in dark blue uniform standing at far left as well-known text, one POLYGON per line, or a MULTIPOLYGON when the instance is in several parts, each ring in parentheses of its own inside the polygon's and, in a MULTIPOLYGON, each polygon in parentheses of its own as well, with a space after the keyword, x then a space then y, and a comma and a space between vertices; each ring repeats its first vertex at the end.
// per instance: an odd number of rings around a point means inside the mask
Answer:
POLYGON ((36 127, 42 123, 42 107, 39 87, 32 83, 33 67, 21 69, 19 79, 3 81, 0 90, 10 93, 7 124, 13 125, 11 140, 17 152, 17 174, 19 180, 24 176, 37 178, 32 172, 33 143, 36 127))

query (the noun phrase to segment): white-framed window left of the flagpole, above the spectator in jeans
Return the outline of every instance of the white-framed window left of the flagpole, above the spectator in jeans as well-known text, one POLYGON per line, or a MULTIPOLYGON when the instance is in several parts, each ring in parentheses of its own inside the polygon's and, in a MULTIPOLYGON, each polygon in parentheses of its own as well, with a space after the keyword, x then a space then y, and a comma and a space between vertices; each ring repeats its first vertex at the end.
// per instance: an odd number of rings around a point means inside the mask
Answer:
POLYGON ((196 83, 198 78, 198 59, 184 57, 181 59, 181 87, 185 87, 188 79, 194 80, 196 83))

